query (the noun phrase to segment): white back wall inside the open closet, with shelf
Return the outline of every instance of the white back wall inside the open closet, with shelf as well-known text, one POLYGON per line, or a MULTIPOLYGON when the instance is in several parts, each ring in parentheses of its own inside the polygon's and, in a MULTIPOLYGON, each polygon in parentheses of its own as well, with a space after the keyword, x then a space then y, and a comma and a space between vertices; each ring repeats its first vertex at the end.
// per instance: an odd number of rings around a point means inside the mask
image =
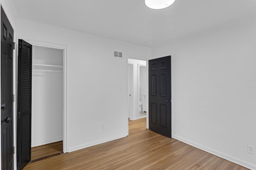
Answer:
POLYGON ((62 57, 60 49, 33 46, 32 147, 63 139, 62 57))

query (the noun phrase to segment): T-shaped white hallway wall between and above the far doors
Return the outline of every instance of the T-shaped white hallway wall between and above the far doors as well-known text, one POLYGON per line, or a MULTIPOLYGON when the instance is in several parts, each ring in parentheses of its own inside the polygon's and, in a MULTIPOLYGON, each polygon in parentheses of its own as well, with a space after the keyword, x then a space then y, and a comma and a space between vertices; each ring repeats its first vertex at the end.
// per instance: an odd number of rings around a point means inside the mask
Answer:
MULTIPOLYGON (((133 56, 128 56, 133 57, 133 56)), ((130 115, 130 120, 134 121, 139 119, 139 90, 138 90, 138 64, 146 65, 146 61, 130 59, 128 58, 128 63, 133 64, 133 114, 130 115)))

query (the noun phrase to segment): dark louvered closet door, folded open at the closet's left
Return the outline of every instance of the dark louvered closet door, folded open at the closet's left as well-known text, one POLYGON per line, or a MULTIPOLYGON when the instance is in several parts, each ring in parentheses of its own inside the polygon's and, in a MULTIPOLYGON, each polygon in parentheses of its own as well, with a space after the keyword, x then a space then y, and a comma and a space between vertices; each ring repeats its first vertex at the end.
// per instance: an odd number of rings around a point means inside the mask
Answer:
POLYGON ((19 39, 17 168, 31 159, 32 45, 19 39))

